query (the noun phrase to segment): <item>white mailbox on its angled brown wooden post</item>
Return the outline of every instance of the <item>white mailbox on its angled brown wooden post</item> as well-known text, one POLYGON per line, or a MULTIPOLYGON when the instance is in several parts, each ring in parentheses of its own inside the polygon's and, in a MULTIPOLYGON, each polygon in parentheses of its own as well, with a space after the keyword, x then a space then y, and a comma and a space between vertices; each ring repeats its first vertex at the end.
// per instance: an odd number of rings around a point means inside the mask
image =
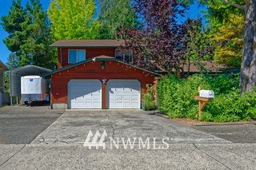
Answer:
POLYGON ((202 118, 202 110, 205 109, 206 104, 214 98, 214 91, 200 90, 199 96, 194 97, 198 101, 198 119, 202 118))

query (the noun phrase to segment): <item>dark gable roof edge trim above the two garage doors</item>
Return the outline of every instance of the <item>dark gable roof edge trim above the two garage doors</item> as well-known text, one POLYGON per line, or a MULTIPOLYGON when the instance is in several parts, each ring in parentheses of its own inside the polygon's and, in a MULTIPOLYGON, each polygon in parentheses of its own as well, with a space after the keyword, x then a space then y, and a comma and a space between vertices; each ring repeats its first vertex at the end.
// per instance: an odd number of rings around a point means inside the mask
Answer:
MULTIPOLYGON (((90 61, 117 61, 117 62, 120 62, 120 63, 125 64, 125 65, 130 65, 130 64, 126 63, 126 62, 123 62, 123 61, 118 60, 118 59, 115 58, 115 57, 109 57, 109 56, 102 55, 102 56, 98 56, 98 57, 89 58, 89 59, 87 59, 87 60, 85 60, 85 61, 80 61, 80 62, 78 62, 78 63, 75 63, 74 65, 67 65, 67 66, 65 66, 65 67, 62 67, 61 69, 56 69, 56 70, 54 70, 54 71, 52 71, 52 72, 50 72, 50 73, 42 74, 41 77, 49 77, 50 75, 52 75, 52 74, 54 74, 54 73, 59 73, 59 72, 62 72, 63 70, 71 69, 71 68, 73 68, 73 67, 76 67, 76 66, 78 66, 78 65, 85 64, 85 63, 90 62, 90 61)), ((158 74, 158 73, 154 73, 154 72, 149 71, 149 70, 147 70, 147 69, 142 69, 142 68, 140 68, 140 67, 138 67, 138 66, 135 66, 135 65, 130 65, 130 66, 131 66, 131 67, 134 67, 135 69, 141 69, 141 70, 143 70, 143 71, 145 71, 145 72, 149 72, 149 73, 153 73, 153 74, 155 74, 155 75, 161 76, 161 75, 158 74)))

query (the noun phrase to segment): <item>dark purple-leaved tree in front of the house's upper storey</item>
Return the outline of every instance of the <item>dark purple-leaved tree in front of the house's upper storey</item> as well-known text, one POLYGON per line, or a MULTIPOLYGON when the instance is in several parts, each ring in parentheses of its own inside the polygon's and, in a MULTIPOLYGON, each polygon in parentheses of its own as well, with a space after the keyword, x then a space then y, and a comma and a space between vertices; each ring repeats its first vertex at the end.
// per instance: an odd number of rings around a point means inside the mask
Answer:
POLYGON ((135 10, 142 18, 142 30, 128 30, 125 49, 134 53, 134 64, 147 69, 180 71, 184 60, 186 28, 176 18, 184 6, 176 0, 135 0, 135 10))

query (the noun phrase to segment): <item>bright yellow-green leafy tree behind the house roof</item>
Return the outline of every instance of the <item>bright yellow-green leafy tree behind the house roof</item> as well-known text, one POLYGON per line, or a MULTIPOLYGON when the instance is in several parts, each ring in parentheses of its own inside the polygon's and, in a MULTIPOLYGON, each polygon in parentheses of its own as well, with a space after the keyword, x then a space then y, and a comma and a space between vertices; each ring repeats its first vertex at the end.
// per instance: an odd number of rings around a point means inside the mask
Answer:
POLYGON ((99 23, 95 19, 94 0, 53 0, 48 16, 56 40, 98 38, 99 23))

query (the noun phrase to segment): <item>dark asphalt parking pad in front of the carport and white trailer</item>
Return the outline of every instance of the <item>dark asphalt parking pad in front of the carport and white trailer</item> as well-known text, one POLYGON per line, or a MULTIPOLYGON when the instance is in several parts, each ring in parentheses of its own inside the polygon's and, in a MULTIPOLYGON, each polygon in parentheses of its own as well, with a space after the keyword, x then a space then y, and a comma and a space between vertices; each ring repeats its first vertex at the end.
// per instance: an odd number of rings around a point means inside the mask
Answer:
POLYGON ((0 144, 29 144, 64 110, 50 110, 48 106, 6 106, 0 109, 0 144))

